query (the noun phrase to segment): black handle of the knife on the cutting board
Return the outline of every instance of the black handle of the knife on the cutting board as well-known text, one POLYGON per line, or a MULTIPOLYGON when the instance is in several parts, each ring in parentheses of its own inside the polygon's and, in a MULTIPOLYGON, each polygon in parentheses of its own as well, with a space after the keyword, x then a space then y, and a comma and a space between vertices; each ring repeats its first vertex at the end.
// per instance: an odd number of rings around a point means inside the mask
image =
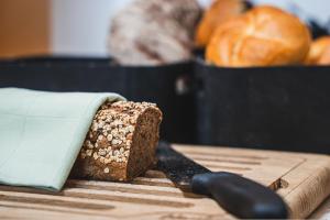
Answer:
POLYGON ((241 219, 287 219, 283 199, 273 190, 239 175, 219 172, 193 177, 193 193, 213 198, 241 219))

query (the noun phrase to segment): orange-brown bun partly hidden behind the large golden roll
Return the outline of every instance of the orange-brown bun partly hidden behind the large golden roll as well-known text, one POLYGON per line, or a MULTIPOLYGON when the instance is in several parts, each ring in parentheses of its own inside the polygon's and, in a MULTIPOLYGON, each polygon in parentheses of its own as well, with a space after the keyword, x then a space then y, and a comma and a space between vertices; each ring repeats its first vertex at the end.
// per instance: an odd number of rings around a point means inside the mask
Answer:
POLYGON ((217 26, 224 21, 243 13, 248 9, 242 0, 216 0, 206 10, 201 21, 196 29, 195 43, 198 47, 205 47, 217 26))

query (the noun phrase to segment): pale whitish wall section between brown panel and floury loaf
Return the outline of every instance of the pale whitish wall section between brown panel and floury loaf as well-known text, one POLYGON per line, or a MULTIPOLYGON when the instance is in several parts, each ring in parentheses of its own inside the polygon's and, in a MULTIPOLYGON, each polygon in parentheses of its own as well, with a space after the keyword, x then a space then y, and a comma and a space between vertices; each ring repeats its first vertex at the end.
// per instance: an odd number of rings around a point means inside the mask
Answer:
POLYGON ((105 55, 110 18, 130 0, 52 0, 52 48, 105 55))

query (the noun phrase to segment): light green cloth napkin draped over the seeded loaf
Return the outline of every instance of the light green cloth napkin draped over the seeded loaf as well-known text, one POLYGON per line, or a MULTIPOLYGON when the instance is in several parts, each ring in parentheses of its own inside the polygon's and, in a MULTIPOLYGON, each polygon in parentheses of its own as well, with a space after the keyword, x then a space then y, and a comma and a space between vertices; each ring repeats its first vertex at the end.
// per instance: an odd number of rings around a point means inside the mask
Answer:
POLYGON ((106 100, 124 98, 0 89, 0 183, 61 190, 106 100))

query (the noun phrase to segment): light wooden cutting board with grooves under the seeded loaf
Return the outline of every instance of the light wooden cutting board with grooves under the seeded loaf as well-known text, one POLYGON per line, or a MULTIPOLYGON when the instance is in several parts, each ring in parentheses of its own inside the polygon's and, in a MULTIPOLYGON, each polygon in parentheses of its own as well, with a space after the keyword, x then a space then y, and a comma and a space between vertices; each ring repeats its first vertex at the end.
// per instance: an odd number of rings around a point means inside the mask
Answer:
MULTIPOLYGON (((306 218, 330 193, 330 157, 227 147, 175 148, 211 170, 276 190, 293 218, 306 218)), ((213 200, 183 193, 157 170, 132 184, 70 179, 62 193, 0 186, 0 219, 234 219, 213 200)))

